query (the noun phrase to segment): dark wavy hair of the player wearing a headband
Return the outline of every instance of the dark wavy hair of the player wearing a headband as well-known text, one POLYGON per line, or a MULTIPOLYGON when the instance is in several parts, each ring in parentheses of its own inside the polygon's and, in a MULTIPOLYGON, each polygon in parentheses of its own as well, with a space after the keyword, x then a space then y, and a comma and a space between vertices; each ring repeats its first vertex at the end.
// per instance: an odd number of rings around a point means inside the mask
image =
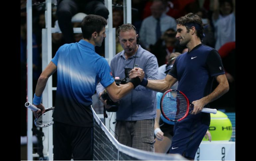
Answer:
POLYGON ((194 26, 197 37, 202 40, 204 28, 203 28, 202 19, 198 15, 193 13, 188 13, 187 15, 181 18, 178 18, 176 22, 177 24, 186 26, 188 33, 189 33, 189 30, 192 28, 192 26, 194 26))

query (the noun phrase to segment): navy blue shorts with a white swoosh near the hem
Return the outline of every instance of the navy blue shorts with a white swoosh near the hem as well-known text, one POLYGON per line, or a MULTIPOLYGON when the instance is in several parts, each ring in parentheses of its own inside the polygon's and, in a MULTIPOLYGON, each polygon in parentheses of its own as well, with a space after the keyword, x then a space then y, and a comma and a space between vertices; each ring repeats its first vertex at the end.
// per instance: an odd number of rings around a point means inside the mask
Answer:
POLYGON ((174 136, 169 153, 178 153, 186 158, 194 159, 208 127, 208 125, 202 124, 201 121, 190 118, 175 122, 174 136))

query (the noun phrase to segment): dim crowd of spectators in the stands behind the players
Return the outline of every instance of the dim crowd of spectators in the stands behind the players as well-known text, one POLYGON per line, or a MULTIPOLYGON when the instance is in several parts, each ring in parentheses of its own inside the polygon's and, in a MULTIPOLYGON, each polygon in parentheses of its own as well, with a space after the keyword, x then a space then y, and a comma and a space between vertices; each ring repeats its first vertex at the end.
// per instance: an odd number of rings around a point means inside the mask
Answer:
MULTIPOLYGON (((44 0, 33 0, 33 93, 39 74, 42 72, 42 29, 46 27, 44 0)), ((112 17, 113 28, 116 31, 123 24, 123 0, 113 0, 112 17)), ((187 13, 196 13, 203 20, 205 37, 202 43, 215 48, 221 58, 229 81, 230 90, 218 100, 210 103, 211 107, 224 109, 226 112, 235 111, 235 1, 234 0, 132 0, 132 24, 140 37, 140 45, 157 57, 158 65, 167 63, 166 57, 172 52, 186 52, 186 46, 179 45, 175 38, 175 20, 187 13), (168 22, 168 24, 166 23, 168 22), (161 30, 153 30, 158 25, 161 30), (156 31, 156 32, 155 32, 156 31)), ((57 6, 52 6, 52 27, 58 16, 57 6)), ((26 135, 26 0, 21 0, 21 136, 26 135), (25 128, 24 128, 25 127, 25 128)), ((73 27, 80 27, 73 23, 73 27)), ((82 39, 82 34, 73 34, 75 42, 82 39)), ((52 34, 52 56, 65 42, 62 33, 52 34)), ((116 53, 122 51, 116 33, 116 53)), ((105 56, 104 42, 95 51, 105 56)), ((57 86, 56 74, 53 75, 53 86, 57 86)), ((216 82, 215 82, 216 84, 216 82)), ((214 89, 215 87, 213 87, 214 89)), ((55 96, 55 94, 53 95, 55 96)), ((53 101, 54 103, 54 101, 53 101)))

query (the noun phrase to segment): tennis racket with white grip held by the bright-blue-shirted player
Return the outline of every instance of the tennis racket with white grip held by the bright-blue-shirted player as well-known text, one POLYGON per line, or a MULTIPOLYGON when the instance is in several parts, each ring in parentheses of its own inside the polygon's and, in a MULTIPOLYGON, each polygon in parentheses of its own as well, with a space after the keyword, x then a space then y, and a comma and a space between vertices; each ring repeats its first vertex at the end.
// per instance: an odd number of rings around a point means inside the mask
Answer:
MULTIPOLYGON (((32 111, 37 111, 38 108, 32 105, 30 102, 25 103, 25 107, 31 109, 32 111)), ((53 124, 53 112, 54 107, 45 109, 44 114, 39 114, 38 118, 35 118, 34 123, 37 127, 47 127, 53 124)))

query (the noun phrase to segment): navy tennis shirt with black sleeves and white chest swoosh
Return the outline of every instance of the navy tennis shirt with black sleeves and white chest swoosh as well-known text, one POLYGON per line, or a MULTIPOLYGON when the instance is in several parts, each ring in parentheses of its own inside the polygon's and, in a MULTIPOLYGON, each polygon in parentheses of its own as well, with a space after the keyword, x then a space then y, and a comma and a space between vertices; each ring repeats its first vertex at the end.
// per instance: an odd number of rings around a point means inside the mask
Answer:
MULTIPOLYGON (((168 74, 178 79, 177 90, 182 91, 192 103, 209 95, 215 76, 225 74, 225 72, 218 52, 209 46, 199 44, 190 52, 179 55, 168 74)), ((202 120, 205 124, 210 124, 208 113, 188 115, 187 118, 202 120)))

